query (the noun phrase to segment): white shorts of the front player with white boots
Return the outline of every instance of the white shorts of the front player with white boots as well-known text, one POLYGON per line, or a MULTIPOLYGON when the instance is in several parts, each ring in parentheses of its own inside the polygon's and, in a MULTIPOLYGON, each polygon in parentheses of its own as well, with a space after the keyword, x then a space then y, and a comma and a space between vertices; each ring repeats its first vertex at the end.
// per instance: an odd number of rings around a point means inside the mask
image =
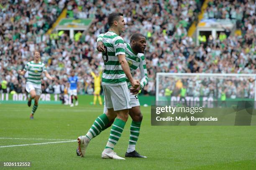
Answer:
POLYGON ((131 100, 127 84, 118 86, 102 85, 104 90, 105 106, 114 110, 131 109, 131 100))

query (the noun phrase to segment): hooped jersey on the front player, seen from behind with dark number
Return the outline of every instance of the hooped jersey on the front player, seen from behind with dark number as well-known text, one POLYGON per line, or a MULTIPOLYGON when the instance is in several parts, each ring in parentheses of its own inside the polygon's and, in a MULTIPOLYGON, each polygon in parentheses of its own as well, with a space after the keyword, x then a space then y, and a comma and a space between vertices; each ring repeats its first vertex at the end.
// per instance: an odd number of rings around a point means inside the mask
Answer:
POLYGON ((98 41, 102 41, 105 46, 105 52, 102 53, 105 64, 105 69, 102 74, 102 84, 110 86, 126 84, 125 73, 117 56, 119 54, 125 55, 123 38, 113 31, 108 31, 105 34, 100 34, 97 37, 97 42, 98 41))

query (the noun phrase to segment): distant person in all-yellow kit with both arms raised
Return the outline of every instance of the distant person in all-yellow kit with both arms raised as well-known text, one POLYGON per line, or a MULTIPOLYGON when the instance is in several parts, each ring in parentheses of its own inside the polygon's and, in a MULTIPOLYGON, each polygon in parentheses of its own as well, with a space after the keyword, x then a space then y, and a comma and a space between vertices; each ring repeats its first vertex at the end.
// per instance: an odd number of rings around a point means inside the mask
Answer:
POLYGON ((91 71, 92 77, 94 79, 94 98, 93 98, 93 104, 95 105, 97 102, 97 98, 99 99, 99 103, 100 105, 102 105, 102 100, 100 97, 100 81, 101 81, 101 74, 102 74, 102 70, 100 71, 100 73, 94 73, 93 71, 91 71))

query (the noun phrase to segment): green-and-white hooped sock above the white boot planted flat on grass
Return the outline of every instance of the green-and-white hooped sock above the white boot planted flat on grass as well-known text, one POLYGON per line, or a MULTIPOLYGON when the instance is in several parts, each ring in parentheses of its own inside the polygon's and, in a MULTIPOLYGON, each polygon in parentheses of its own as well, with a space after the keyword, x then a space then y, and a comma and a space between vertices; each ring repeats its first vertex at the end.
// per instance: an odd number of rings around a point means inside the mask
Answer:
POLYGON ((110 130, 110 136, 108 139, 108 143, 105 147, 106 149, 107 148, 114 149, 115 145, 117 144, 118 140, 121 137, 125 123, 126 122, 124 122, 121 119, 115 119, 115 121, 111 127, 111 130, 110 130))

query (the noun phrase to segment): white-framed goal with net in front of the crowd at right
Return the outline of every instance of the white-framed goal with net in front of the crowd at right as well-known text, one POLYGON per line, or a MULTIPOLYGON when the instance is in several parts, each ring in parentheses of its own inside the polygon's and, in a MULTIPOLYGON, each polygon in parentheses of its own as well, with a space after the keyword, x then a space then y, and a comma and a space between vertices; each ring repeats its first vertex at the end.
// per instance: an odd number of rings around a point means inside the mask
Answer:
POLYGON ((256 74, 156 73, 156 101, 256 101, 256 74))

